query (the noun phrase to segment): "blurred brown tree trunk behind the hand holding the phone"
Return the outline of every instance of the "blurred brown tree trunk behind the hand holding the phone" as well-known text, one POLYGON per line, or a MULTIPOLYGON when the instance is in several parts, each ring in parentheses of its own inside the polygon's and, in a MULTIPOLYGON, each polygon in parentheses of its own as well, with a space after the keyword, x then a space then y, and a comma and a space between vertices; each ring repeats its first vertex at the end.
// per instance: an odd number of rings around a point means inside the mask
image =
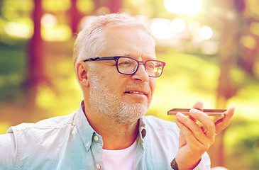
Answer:
MULTIPOLYGON (((236 14, 236 13, 235 13, 236 14)), ((238 16, 236 15, 236 18, 238 16)), ((231 81, 231 69, 236 65, 236 43, 237 43, 237 19, 221 18, 224 23, 221 39, 221 50, 219 52, 219 85, 217 89, 216 108, 226 108, 229 98, 236 94, 236 86, 231 81)), ((223 130, 216 136, 214 145, 209 149, 211 166, 225 166, 223 130)))

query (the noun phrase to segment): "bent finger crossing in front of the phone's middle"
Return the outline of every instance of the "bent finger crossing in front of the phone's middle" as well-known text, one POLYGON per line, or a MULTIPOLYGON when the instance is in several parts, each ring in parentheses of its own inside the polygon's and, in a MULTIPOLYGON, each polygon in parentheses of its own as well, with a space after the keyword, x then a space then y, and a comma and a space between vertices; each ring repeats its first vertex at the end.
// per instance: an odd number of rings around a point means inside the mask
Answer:
POLYGON ((194 108, 192 108, 189 111, 189 113, 190 113, 190 115, 192 115, 192 117, 194 119, 199 120, 199 122, 202 123, 203 131, 204 131, 206 137, 208 137, 210 140, 214 140, 214 137, 216 135, 215 134, 215 124, 211 120, 211 118, 209 118, 209 115, 206 115, 202 111, 199 111, 194 108))

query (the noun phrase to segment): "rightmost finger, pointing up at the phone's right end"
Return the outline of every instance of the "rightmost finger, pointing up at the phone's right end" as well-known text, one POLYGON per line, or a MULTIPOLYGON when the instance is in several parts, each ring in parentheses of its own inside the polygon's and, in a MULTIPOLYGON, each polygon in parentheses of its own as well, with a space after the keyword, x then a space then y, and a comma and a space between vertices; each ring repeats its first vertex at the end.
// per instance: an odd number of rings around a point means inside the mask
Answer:
POLYGON ((224 118, 221 118, 221 119, 216 121, 216 123, 215 123, 216 134, 218 134, 219 132, 224 130, 226 127, 228 127, 229 123, 231 122, 231 119, 233 117, 234 112, 235 112, 235 107, 231 107, 231 108, 228 109, 228 111, 226 111, 226 113, 224 115, 224 118))

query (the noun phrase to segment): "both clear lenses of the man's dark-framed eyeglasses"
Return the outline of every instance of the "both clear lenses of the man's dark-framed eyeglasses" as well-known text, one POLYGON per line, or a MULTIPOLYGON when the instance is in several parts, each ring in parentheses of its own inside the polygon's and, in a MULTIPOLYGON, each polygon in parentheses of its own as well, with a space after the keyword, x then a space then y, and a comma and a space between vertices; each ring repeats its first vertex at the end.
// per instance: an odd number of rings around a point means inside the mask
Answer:
MULTIPOLYGON (((162 74, 162 63, 159 61, 148 61, 144 66, 150 77, 159 77, 162 74)), ((138 62, 128 57, 120 57, 117 68, 122 74, 133 74, 138 69, 138 62)))

